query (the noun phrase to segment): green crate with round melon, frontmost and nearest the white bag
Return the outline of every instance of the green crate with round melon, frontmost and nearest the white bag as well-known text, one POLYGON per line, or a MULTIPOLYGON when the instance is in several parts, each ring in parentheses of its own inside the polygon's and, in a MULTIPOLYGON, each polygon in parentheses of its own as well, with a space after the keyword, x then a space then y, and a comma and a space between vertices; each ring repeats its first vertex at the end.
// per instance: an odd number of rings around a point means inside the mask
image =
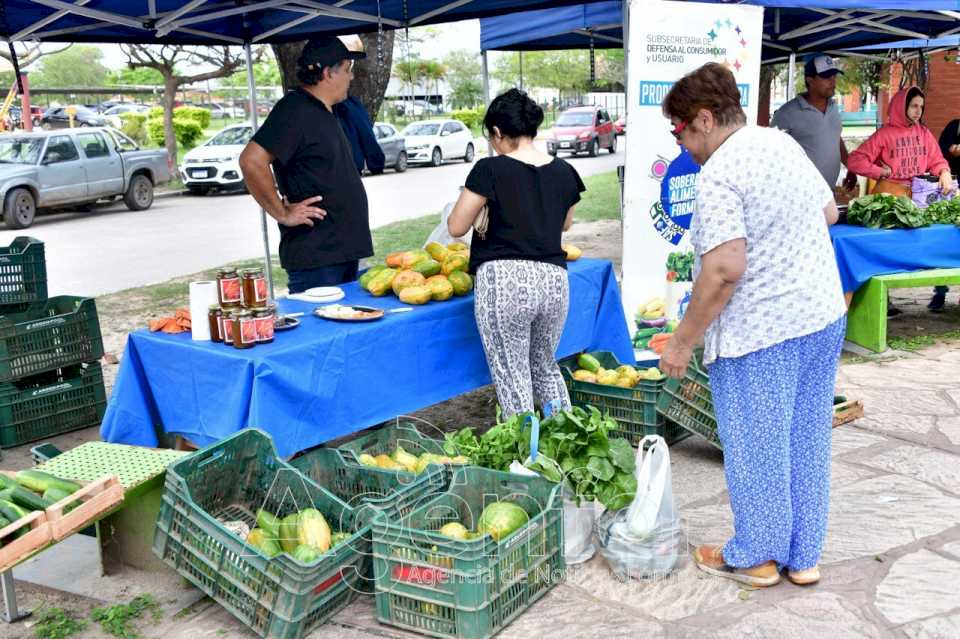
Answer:
POLYGON ((484 639, 503 630, 565 577, 561 490, 540 477, 468 466, 402 520, 375 519, 377 619, 434 637, 484 639), (517 503, 530 521, 499 542, 437 532, 451 521, 475 529, 498 500, 517 503))

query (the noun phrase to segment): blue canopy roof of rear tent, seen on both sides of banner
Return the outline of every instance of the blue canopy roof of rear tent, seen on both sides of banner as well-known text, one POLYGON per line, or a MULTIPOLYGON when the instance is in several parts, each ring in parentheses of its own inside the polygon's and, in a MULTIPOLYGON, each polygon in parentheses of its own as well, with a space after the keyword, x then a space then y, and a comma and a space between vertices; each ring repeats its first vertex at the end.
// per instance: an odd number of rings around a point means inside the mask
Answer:
MULTIPOLYGON (((598 25, 622 40, 622 28, 609 22, 619 4, 601 2, 481 20, 481 49, 585 48, 590 42, 588 30, 598 25), (603 17, 601 7, 608 12, 603 17)), ((768 62, 785 59, 791 52, 842 52, 904 38, 936 39, 960 33, 960 0, 812 0, 802 7, 797 0, 748 0, 747 4, 767 8, 763 59, 768 62)), ((594 46, 610 43, 600 44, 595 37, 594 46)))

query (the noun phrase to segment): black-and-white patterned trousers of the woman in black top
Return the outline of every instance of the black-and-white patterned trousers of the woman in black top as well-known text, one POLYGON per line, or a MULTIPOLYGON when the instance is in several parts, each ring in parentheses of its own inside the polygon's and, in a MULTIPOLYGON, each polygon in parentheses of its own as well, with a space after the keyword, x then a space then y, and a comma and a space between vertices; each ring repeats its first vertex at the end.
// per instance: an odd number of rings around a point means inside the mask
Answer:
POLYGON ((504 419, 534 403, 570 396, 556 351, 567 319, 566 270, 527 260, 495 260, 477 269, 474 317, 504 419))

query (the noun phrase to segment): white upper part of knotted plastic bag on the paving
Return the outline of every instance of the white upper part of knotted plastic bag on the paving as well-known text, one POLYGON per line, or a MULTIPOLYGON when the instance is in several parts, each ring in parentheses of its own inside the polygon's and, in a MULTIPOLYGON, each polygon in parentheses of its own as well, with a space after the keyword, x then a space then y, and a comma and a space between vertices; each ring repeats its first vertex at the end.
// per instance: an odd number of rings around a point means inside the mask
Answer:
POLYGON ((647 435, 637 445, 637 495, 627 510, 627 528, 635 537, 677 519, 670 475, 670 449, 659 435, 647 435), (644 451, 649 442, 650 447, 644 451))

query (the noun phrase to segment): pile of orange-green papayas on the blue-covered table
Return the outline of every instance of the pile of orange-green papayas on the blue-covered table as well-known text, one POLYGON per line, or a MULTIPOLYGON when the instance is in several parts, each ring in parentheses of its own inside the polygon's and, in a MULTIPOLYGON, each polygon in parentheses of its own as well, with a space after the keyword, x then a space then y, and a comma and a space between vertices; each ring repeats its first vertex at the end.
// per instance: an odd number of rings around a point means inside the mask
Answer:
POLYGON ((469 265, 466 244, 431 242, 423 249, 391 253, 385 264, 371 266, 360 276, 360 286, 375 297, 392 292, 404 304, 443 302, 473 290, 469 265))

